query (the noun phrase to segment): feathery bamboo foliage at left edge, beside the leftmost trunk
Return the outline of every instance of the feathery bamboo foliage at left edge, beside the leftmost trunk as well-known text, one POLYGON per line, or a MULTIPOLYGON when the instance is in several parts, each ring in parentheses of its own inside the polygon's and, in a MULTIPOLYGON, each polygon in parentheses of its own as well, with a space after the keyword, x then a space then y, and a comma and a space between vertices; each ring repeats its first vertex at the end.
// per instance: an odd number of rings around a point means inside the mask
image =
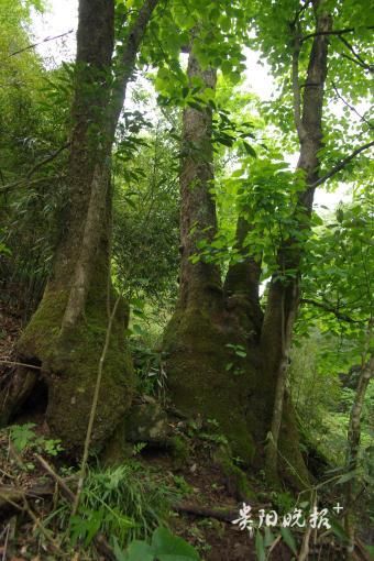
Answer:
POLYGON ((0 8, 0 262, 12 295, 29 316, 42 295, 62 227, 70 90, 66 67, 47 73, 28 48, 31 9, 42 2, 2 2, 0 8), (2 252, 3 253, 3 252, 2 252))

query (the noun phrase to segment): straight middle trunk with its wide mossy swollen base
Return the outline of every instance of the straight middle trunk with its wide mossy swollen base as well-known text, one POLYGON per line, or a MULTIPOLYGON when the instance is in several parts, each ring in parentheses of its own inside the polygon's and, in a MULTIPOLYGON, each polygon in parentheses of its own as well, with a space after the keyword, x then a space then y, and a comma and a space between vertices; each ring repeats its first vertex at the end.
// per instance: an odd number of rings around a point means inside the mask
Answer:
MULTIPOLYGON (((216 72, 201 69, 189 55, 188 77, 201 78, 205 88, 215 88, 216 72)), ((235 455, 246 462, 253 455, 245 421, 248 383, 246 359, 238 358, 227 344, 245 344, 245 336, 232 324, 226 309, 220 271, 217 265, 190 257, 198 241, 211 240, 217 230, 216 206, 210 189, 213 180, 211 109, 188 107, 183 119, 180 168, 180 287, 176 311, 166 329, 167 385, 178 409, 191 417, 215 419, 229 436, 235 455), (240 375, 227 371, 243 370, 240 375), (232 404, 235 404, 232 407, 232 404), (238 407, 237 407, 238 405, 238 407)))

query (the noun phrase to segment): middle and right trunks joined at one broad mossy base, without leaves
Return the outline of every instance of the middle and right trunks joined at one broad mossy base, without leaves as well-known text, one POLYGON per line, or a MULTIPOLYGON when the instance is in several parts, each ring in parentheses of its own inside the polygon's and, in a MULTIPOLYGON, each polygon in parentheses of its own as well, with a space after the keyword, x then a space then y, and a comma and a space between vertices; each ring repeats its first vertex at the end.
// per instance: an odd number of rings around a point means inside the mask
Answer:
MULTIPOLYGON (((327 32, 331 29, 331 18, 323 13, 320 2, 316 0, 312 3, 317 34, 310 52, 302 105, 298 73, 295 91, 295 117, 300 138, 298 168, 305 172, 306 178, 296 220, 299 229, 306 232, 314 184, 318 178, 327 32), (300 218, 301 215, 304 218, 300 218)), ((296 37, 298 41, 299 37, 296 37)), ((195 73, 198 69, 194 55, 190 56, 188 68, 190 75, 191 69, 195 73)), ((294 74, 295 70, 297 68, 294 67, 294 74)), ((204 72, 198 72, 209 86, 204 72)), ((209 127, 202 124, 207 122, 206 119, 206 113, 195 109, 185 111, 185 144, 191 130, 198 134, 193 139, 194 146, 211 142, 209 127), (200 124, 193 127, 194 122, 200 124)), ((219 272, 212 265, 201 262, 193 264, 189 257, 197 252, 199 232, 205 230, 205 237, 207 232, 213 233, 216 216, 212 213, 207 180, 211 176, 206 172, 202 177, 199 174, 201 160, 194 158, 190 152, 188 154, 180 174, 180 297, 165 334, 172 398, 184 413, 218 420, 234 453, 252 465, 267 466, 273 481, 280 474, 293 485, 305 487, 309 475, 300 452, 295 414, 285 392, 288 350, 299 304, 301 248, 296 240, 290 240, 279 249, 279 271, 273 275, 264 314, 258 299, 261 263, 245 249, 245 238, 253 228, 249 219, 239 219, 237 245, 243 253, 243 260, 229 268, 223 287, 219 282, 219 272), (296 276, 287 277, 285 272, 289 270, 293 275, 296 271, 296 276), (280 282, 279 276, 286 276, 286 282, 280 282), (267 448, 266 454, 268 433, 273 436, 273 447, 267 448)), ((208 162, 205 161, 204 165, 207 167, 208 162)), ((211 166, 212 161, 209 160, 209 169, 211 166)))

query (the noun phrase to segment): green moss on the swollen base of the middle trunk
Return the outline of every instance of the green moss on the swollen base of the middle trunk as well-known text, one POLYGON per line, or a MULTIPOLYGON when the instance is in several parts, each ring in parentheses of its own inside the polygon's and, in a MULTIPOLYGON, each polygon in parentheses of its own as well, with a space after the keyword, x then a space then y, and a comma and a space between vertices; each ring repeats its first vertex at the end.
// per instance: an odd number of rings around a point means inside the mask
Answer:
POLYGON ((204 309, 177 310, 164 339, 167 385, 177 409, 190 417, 217 420, 233 454, 250 464, 254 444, 246 409, 253 371, 249 361, 240 375, 226 370, 231 360, 229 342, 238 341, 204 309))

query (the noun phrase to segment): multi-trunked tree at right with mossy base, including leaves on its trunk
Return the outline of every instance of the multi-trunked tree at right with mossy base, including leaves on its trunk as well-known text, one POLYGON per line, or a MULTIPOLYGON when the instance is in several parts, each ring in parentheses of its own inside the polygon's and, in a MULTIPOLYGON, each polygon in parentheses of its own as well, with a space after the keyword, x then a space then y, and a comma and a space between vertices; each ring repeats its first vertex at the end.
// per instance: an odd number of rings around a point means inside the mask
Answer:
MULTIPOLYGON (((345 22, 349 7, 338 4, 337 21, 345 22)), ((179 302, 165 334, 165 348, 169 352, 169 385, 177 406, 190 415, 216 418, 229 437, 234 454, 248 463, 265 465, 273 481, 280 474, 296 486, 308 485, 309 479, 286 392, 286 377, 299 308, 306 243, 311 232, 314 193, 318 185, 346 168, 358 154, 373 144, 371 141, 364 143, 320 175, 321 162, 331 157, 331 147, 323 144, 327 133, 322 129, 322 119, 329 42, 331 36, 340 34, 332 26, 332 11, 331 3, 323 1, 285 4, 280 11, 282 40, 276 42, 278 7, 276 13, 274 6, 261 3, 258 7, 255 20, 258 44, 268 53, 271 62, 274 61, 279 75, 292 75, 290 82, 287 80, 284 88, 285 106, 282 110, 289 114, 287 111, 293 108, 294 130, 299 144, 297 169, 295 174, 285 172, 287 166, 284 163, 258 162, 249 165, 246 170, 243 165, 243 176, 246 177, 242 179, 238 197, 240 217, 235 258, 222 286, 220 273, 211 265, 219 237, 209 243, 209 237, 216 230, 216 218, 211 211, 208 215, 211 207, 207 195, 205 209, 201 199, 193 207, 186 204, 188 199, 194 200, 196 184, 202 186, 204 182, 195 170, 195 177, 189 178, 187 193, 190 194, 186 195, 184 161, 180 176, 182 198, 185 200, 182 245, 184 251, 187 245, 188 252, 183 255, 182 271, 187 268, 184 260, 188 260, 188 267, 198 277, 195 285, 199 292, 194 295, 195 298, 193 296, 194 305, 184 305, 189 277, 182 274, 179 302), (204 217, 201 226, 200 216, 204 217), (206 216, 210 216, 209 223, 206 216), (184 223, 190 227, 187 235, 184 223), (210 245, 210 252, 206 250, 198 255, 204 244, 196 239, 196 233, 204 230, 209 232, 205 248, 210 245), (210 267, 207 262, 210 262, 210 267), (264 270, 267 277, 271 275, 271 282, 263 316, 258 288, 264 270), (209 274, 213 277, 206 276, 207 271, 212 272, 209 274), (208 284, 204 285, 206 279, 208 284), (208 302, 213 304, 209 306, 208 302), (266 437, 268 444, 264 454, 266 437)), ((365 35, 361 38, 365 44, 365 35)), ((337 53, 333 52, 333 79, 338 72, 336 59, 337 53)), ((360 80, 364 92, 367 84, 362 77, 360 80)), ((328 113, 326 120, 327 129, 331 130, 332 120, 328 113)), ((288 134, 293 130, 289 119, 283 127, 288 134)), ((200 134, 199 142, 202 142, 207 133, 200 134)), ((289 140, 284 141, 284 145, 287 144, 288 147, 295 146, 289 140)), ((208 189, 205 183, 205 191, 208 189)))

